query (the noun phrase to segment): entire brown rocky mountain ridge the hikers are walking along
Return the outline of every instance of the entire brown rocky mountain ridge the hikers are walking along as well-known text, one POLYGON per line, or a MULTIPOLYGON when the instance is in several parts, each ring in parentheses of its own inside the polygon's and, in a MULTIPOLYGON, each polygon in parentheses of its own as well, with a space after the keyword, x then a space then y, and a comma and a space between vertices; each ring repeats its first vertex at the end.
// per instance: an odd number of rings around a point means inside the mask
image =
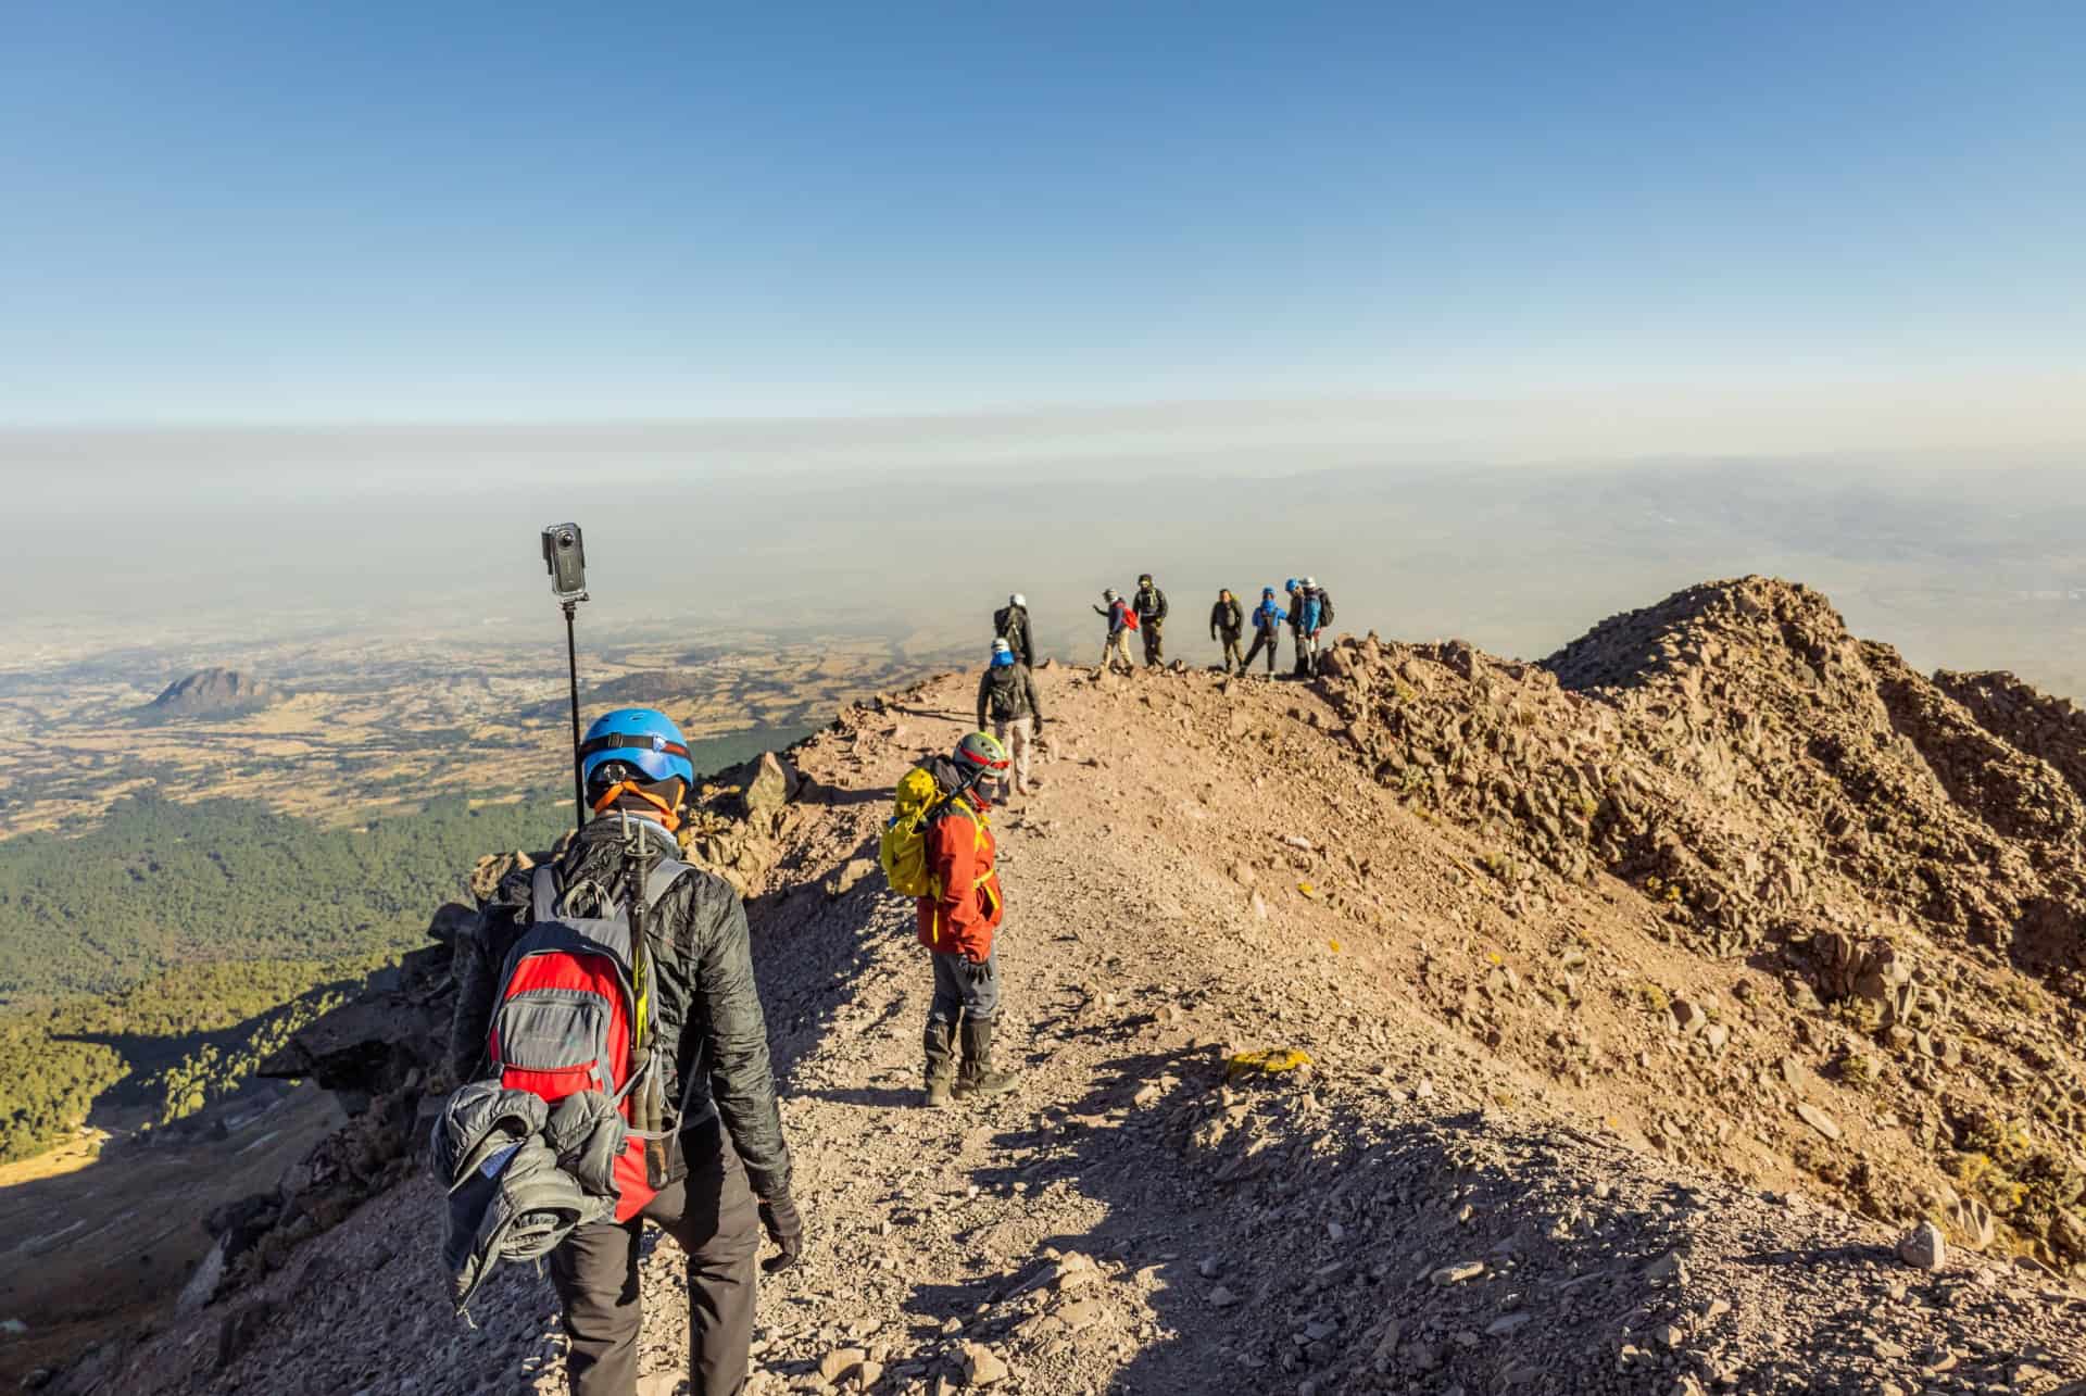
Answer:
MULTIPOLYGON (((1765 578, 1542 666, 1366 636, 1310 687, 1039 678, 1008 1102, 907 1108, 924 966, 870 862, 970 678, 705 791, 818 1239, 757 1392, 2080 1390, 2067 703, 1921 678, 1765 578)), ((392 1185, 444 974, 298 1037, 350 1129, 217 1219, 186 1319, 52 1390, 561 1390, 542 1283, 448 1325, 434 1198, 392 1185)))

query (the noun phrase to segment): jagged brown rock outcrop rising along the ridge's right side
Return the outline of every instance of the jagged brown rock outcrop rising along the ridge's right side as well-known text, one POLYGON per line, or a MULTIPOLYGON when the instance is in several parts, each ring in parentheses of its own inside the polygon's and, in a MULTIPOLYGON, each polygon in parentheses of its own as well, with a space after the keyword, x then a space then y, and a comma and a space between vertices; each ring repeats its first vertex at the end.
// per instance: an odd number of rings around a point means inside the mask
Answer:
POLYGON ((1373 776, 1473 828, 1491 876, 1608 872, 1677 941, 1786 966, 1798 1002, 1873 1043, 1846 1070, 1963 1183, 1934 1210, 2086 1260, 2086 1079, 2061 1050, 2086 1006, 2069 703, 1927 680, 1767 578, 1617 616, 1544 664, 1368 636, 1325 674, 1373 776))

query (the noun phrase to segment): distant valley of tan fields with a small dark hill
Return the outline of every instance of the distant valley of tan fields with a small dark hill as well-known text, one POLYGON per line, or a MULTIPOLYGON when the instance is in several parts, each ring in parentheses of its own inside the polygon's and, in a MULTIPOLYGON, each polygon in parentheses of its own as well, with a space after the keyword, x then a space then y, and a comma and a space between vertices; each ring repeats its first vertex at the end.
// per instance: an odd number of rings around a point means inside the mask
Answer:
MULTIPOLYGON (((586 639, 582 705, 663 707, 703 768, 795 741, 851 697, 955 659, 859 634, 586 639)), ((0 837, 73 826, 142 791, 236 795, 348 826, 442 793, 555 789, 572 741, 563 659, 555 639, 507 632, 17 657, 0 668, 0 837)))

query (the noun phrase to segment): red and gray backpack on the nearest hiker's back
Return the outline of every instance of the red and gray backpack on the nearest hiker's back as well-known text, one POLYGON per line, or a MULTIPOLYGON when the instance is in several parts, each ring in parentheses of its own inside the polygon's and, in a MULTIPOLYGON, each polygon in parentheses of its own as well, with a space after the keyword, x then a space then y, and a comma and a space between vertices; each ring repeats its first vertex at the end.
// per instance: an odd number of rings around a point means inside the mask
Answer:
MULTIPOLYGON (((659 906, 688 870, 655 862, 645 874, 645 910, 659 906)), ((657 1185, 647 1150, 672 1135, 651 1004, 651 954, 642 933, 632 931, 630 910, 590 881, 559 889, 557 868, 538 866, 530 922, 501 970, 486 1056, 507 1089, 553 1104, 601 1091, 617 1104, 628 1131, 615 1156, 615 1221, 630 1221, 651 1202, 657 1185)))

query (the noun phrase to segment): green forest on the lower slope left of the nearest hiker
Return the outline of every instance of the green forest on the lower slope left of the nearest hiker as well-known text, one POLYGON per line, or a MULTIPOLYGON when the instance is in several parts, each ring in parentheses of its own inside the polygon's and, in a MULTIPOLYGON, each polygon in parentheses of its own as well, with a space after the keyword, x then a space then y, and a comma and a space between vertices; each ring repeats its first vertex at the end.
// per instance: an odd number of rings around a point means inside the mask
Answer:
POLYGON ((119 801, 79 837, 0 841, 0 1162, 96 1104, 173 1123, 421 943, 471 864, 549 845, 553 799, 325 831, 232 799, 119 801))

